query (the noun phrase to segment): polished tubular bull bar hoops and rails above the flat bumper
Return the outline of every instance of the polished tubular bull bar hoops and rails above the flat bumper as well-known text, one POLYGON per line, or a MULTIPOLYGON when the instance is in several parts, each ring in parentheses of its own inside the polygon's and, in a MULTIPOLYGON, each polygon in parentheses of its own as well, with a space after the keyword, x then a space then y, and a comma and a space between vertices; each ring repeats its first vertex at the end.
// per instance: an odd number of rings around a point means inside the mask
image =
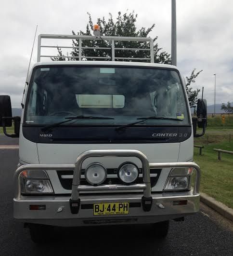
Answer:
POLYGON ((199 193, 200 189, 200 168, 194 162, 169 162, 169 163, 149 163, 147 157, 139 150, 132 149, 109 149, 109 150, 87 150, 81 153, 75 164, 25 164, 15 172, 16 178, 16 199, 21 198, 20 174, 25 170, 74 170, 72 192, 70 198, 70 209, 72 214, 78 214, 80 206, 79 191, 104 191, 104 190, 143 190, 142 208, 144 211, 150 211, 152 206, 150 168, 174 168, 191 167, 196 170, 196 179, 194 185, 194 195, 199 193), (81 167, 84 160, 90 157, 137 157, 142 162, 142 184, 132 185, 80 185, 81 167))

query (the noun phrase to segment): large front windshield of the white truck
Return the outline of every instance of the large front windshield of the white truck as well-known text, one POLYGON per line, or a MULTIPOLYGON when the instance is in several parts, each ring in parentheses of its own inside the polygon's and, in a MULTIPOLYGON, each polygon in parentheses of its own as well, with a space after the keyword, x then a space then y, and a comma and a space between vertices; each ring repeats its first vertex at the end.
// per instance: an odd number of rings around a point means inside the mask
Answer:
POLYGON ((149 116, 174 120, 149 119, 137 125, 189 123, 181 81, 172 69, 38 67, 28 90, 27 124, 52 124, 80 115, 112 119, 76 119, 64 125, 126 124, 149 116))

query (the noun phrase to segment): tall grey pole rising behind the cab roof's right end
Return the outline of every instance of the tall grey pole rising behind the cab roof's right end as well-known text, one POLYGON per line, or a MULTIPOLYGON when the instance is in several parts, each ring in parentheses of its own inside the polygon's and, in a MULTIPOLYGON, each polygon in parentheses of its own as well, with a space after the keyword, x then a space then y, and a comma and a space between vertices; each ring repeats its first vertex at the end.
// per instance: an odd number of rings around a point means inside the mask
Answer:
POLYGON ((176 0, 171 0, 171 65, 177 66, 177 61, 176 61, 176 0))

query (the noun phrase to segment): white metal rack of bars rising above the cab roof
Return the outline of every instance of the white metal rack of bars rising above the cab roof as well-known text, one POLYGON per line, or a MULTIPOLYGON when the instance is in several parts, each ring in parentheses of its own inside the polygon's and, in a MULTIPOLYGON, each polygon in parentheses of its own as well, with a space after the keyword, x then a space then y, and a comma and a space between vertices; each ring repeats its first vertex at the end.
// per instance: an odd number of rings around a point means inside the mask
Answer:
POLYGON ((145 60, 154 63, 154 43, 153 39, 150 37, 111 37, 111 36, 80 36, 80 35, 49 35, 49 34, 41 34, 38 37, 38 53, 37 53, 37 61, 40 62, 41 57, 52 57, 52 58, 73 58, 77 60, 82 59, 103 59, 103 60, 145 60), (78 47, 75 46, 50 46, 50 45, 41 45, 41 39, 69 39, 69 40, 77 40, 78 47), (111 47, 86 47, 82 46, 82 40, 104 40, 111 41, 111 47), (150 42, 150 48, 117 48, 115 47, 115 41, 135 41, 135 42, 150 42), (41 48, 68 48, 68 49, 76 49, 78 51, 78 56, 65 56, 65 55, 41 55, 41 48), (95 50, 111 50, 110 56, 82 56, 82 49, 95 49, 95 50), (117 57, 115 56, 115 51, 150 51, 150 58, 134 58, 134 57, 117 57))

